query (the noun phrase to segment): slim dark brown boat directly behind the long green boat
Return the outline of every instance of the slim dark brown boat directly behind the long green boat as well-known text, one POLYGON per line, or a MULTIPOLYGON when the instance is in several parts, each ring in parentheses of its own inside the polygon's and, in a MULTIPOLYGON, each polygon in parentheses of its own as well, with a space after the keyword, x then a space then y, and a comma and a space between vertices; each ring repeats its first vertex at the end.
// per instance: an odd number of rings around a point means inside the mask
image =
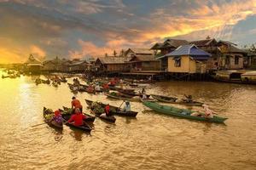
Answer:
POLYGON ((184 102, 184 101, 177 101, 177 98, 175 97, 168 97, 168 96, 161 96, 161 95, 154 95, 151 94, 151 96, 154 99, 157 99, 161 102, 170 103, 170 104, 177 104, 177 105, 203 105, 203 103, 198 101, 192 101, 192 102, 184 102))

